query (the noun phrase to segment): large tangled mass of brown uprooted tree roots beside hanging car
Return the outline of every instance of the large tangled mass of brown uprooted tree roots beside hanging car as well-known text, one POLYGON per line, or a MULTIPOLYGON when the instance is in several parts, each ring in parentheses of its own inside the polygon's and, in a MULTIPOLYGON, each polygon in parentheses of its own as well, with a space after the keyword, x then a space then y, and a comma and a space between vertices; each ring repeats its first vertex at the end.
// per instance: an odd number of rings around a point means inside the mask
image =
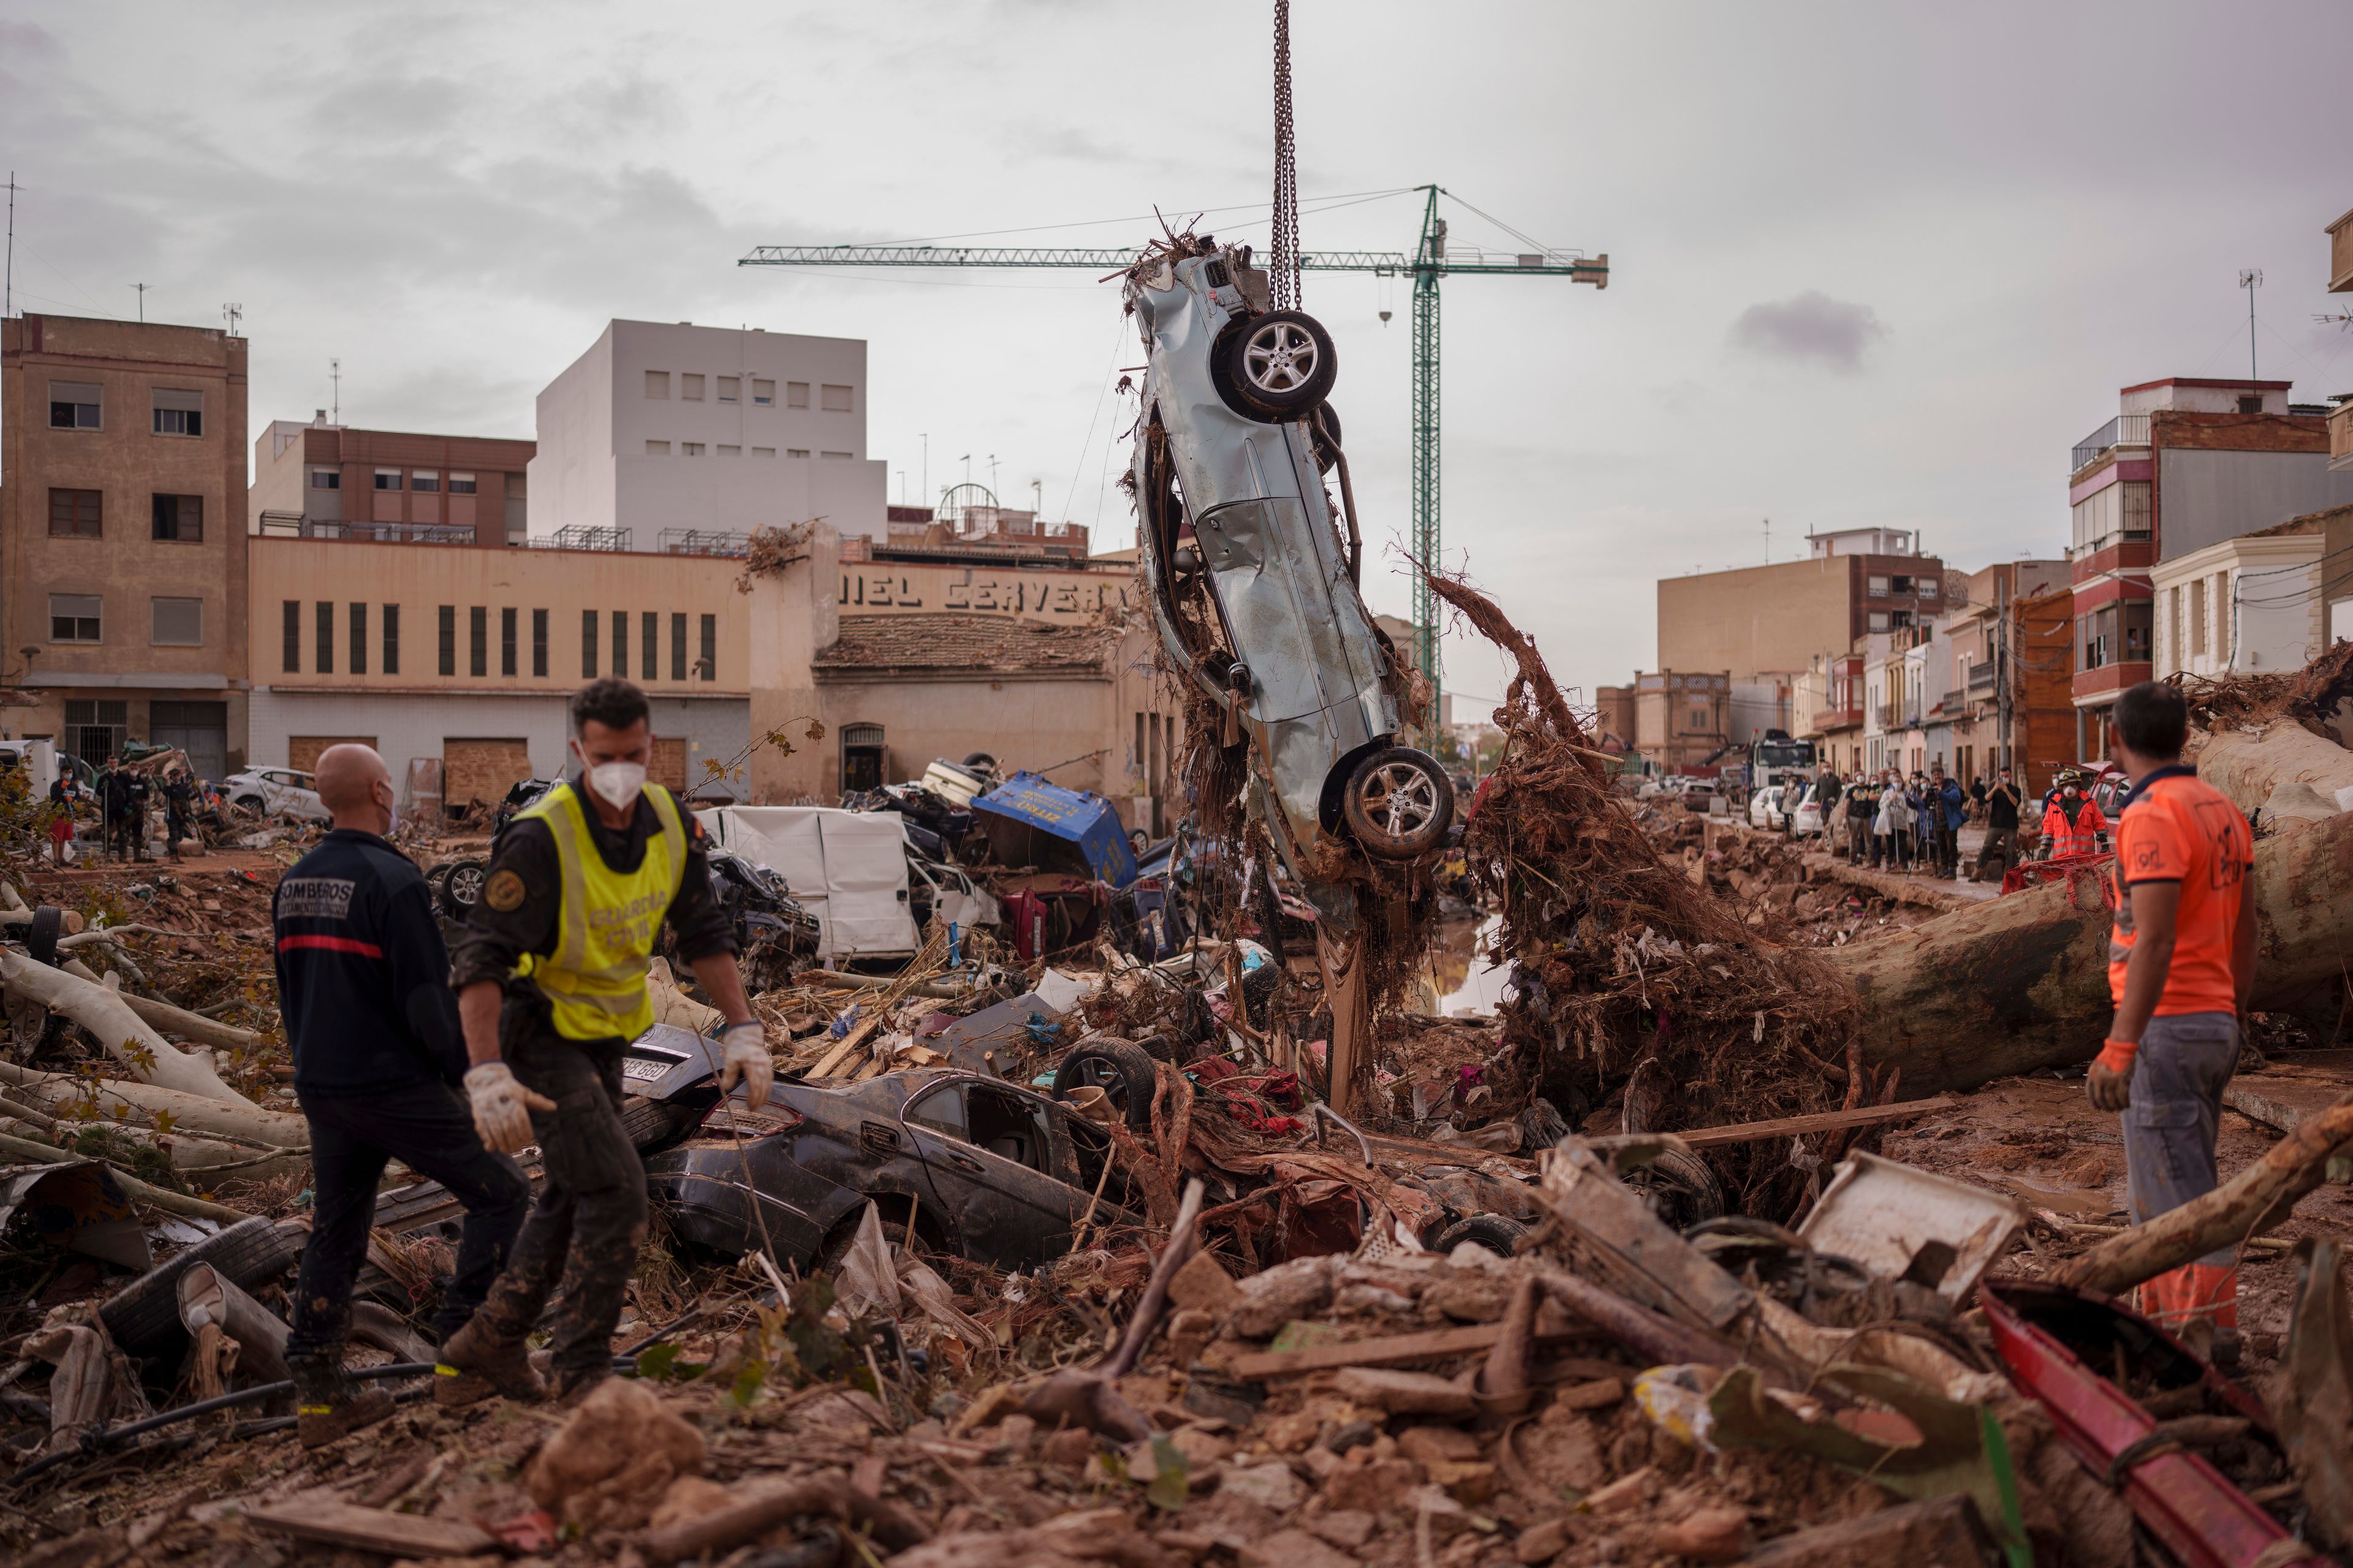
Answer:
MULTIPOLYGON (((1426 581, 1518 665, 1466 846, 1504 912, 1489 959, 1518 971, 1499 1018, 1520 1091, 1572 1121, 1614 1100, 1621 1131, 1826 1110, 1833 1063, 1852 1060, 1854 990, 1661 860, 1534 642, 1475 588, 1426 581)), ((1861 1077, 1840 1077, 1861 1103, 1861 1077)), ((1779 1218, 1802 1187, 1784 1145, 1713 1161, 1751 1213, 1779 1218)))

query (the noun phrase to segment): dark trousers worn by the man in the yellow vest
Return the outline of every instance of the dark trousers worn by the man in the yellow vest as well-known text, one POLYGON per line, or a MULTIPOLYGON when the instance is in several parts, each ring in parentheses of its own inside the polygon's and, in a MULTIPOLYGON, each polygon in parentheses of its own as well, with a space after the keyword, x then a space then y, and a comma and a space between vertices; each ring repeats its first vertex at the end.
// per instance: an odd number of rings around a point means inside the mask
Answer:
POLYGON ((548 1328, 555 1392, 562 1394, 612 1371, 612 1331, 645 1244, 645 1164, 621 1128, 628 1041, 565 1039, 546 1025, 544 1004, 518 1009, 511 999, 508 1025, 518 1013, 536 1018, 501 1030, 506 1065, 525 1088, 555 1100, 555 1110, 532 1112, 546 1182, 513 1260, 482 1302, 482 1321, 499 1338, 520 1340, 560 1281, 562 1300, 548 1328))

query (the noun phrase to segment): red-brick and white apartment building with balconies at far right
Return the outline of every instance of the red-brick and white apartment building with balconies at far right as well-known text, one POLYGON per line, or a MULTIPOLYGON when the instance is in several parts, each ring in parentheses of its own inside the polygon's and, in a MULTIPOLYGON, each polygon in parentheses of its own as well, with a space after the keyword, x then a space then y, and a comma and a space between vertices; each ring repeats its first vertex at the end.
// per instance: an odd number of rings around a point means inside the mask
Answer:
POLYGON ((2115 696, 2155 672, 2158 562, 2353 503, 2353 470, 2329 465, 2329 409, 2289 404, 2289 386, 2141 381, 2068 454, 2078 759, 2106 755, 2115 696))

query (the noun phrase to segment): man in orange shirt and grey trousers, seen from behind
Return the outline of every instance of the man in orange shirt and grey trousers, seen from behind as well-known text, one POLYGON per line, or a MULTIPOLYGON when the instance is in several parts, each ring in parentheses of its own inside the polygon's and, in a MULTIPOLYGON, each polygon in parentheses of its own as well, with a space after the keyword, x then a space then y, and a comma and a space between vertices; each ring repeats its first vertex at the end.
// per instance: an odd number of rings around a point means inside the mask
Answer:
MULTIPOLYGON (((2254 985, 2254 837, 2181 764, 2186 736, 2172 686, 2141 682, 2118 698, 2111 750, 2132 795, 2115 813, 2115 1023, 2085 1088, 2099 1110, 2125 1112, 2134 1225, 2214 1190, 2214 1124, 2254 985)), ((2238 1255, 2221 1248, 2151 1279, 2139 1307, 2193 1345, 2235 1338, 2238 1255)))

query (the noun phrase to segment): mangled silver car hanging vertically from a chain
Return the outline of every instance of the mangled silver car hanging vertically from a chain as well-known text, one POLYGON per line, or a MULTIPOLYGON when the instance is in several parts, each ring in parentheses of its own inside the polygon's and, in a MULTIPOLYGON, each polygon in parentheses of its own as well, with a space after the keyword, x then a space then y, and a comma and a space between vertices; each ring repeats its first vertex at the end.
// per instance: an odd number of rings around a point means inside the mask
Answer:
POLYGON ((1402 663, 1358 590, 1332 334, 1268 308, 1249 247, 1155 247, 1125 294, 1146 348, 1129 477, 1153 616, 1228 745, 1249 743, 1254 813, 1304 882, 1332 882, 1334 839, 1381 860, 1438 849, 1454 788, 1398 738, 1402 663))

